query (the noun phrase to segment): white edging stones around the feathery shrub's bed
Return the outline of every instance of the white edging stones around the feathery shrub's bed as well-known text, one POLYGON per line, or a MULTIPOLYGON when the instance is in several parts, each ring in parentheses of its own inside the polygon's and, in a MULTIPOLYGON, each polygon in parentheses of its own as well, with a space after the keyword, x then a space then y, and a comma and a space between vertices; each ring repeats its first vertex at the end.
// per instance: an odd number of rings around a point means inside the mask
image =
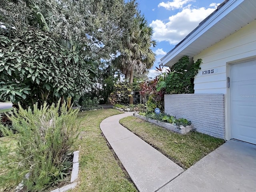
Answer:
MULTIPOLYGON (((78 162, 78 158, 79 158, 79 151, 74 151, 73 152, 74 156, 73 156, 73 167, 72 167, 72 172, 71 172, 71 179, 70 179, 70 184, 65 185, 61 188, 57 188, 54 189, 50 192, 65 192, 67 190, 70 189, 74 189, 77 185, 77 182, 74 182, 77 178, 78 178, 78 170, 79 170, 79 162, 78 162)), ((30 174, 26 174, 26 178, 29 177, 30 174)), ((15 188, 15 192, 20 192, 24 185, 23 185, 24 181, 22 180, 22 182, 20 182, 20 184, 15 188)))

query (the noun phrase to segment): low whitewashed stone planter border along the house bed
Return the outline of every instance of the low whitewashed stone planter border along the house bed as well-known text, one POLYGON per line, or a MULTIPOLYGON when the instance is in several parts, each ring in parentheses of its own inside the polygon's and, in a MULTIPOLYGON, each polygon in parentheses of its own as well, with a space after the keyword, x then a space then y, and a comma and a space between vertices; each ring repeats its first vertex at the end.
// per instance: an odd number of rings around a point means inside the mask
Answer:
POLYGON ((146 118, 145 116, 139 115, 137 113, 134 113, 135 117, 141 118, 145 121, 148 121, 150 123, 156 124, 160 127, 166 128, 168 130, 171 130, 173 132, 179 133, 179 134, 186 134, 188 132, 190 132, 191 130, 194 130, 194 126, 191 125, 187 125, 186 127, 180 125, 174 125, 171 123, 167 123, 167 122, 162 122, 162 121, 158 121, 158 120, 154 120, 154 119, 150 119, 150 118, 146 118))

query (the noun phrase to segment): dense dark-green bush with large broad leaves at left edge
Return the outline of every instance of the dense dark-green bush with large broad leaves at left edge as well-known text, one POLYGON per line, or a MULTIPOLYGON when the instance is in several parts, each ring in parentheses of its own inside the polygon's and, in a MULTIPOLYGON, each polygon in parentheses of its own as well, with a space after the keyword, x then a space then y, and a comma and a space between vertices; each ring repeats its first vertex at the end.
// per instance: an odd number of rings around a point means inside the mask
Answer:
POLYGON ((23 107, 51 104, 82 95, 91 83, 95 62, 66 49, 52 34, 32 27, 8 33, 0 28, 0 37, 0 100, 23 107))

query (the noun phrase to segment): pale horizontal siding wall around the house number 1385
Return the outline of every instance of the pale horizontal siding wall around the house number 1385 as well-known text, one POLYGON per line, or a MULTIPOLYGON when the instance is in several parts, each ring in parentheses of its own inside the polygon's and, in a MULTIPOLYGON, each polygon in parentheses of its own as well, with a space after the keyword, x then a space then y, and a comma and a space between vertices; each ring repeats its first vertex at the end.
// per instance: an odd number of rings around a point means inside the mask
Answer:
POLYGON ((256 56, 256 21, 247 24, 224 40, 194 56, 201 58, 201 70, 194 80, 195 93, 226 94, 229 63, 256 56), (216 68, 216 74, 201 75, 202 71, 216 68))

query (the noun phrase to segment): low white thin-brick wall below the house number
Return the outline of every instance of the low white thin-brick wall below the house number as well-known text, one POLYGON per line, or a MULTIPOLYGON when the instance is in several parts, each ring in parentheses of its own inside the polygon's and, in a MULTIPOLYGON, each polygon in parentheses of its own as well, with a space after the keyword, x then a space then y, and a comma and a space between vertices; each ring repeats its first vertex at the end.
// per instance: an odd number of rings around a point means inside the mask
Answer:
POLYGON ((164 111, 190 120, 198 132, 225 138, 224 94, 166 94, 164 111))

